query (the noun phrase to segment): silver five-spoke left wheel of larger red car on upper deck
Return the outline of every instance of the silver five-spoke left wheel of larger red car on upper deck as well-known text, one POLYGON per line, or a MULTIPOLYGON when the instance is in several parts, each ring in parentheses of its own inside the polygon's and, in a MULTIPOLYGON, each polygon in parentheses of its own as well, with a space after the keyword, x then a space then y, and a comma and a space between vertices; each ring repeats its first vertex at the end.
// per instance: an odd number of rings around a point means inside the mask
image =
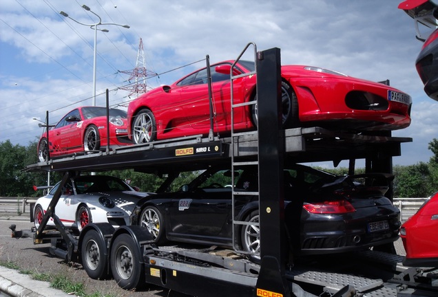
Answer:
POLYGON ((156 140, 154 113, 149 109, 140 110, 132 122, 132 142, 143 144, 156 140))

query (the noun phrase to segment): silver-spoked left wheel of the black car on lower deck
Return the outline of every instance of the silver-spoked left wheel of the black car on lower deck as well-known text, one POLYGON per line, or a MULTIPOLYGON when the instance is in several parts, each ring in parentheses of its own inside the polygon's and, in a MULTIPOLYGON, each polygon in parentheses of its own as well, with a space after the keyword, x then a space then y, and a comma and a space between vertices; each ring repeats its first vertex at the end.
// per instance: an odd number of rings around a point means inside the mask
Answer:
POLYGON ((138 225, 147 228, 155 243, 165 243, 165 225, 163 215, 154 206, 146 206, 140 214, 138 225))

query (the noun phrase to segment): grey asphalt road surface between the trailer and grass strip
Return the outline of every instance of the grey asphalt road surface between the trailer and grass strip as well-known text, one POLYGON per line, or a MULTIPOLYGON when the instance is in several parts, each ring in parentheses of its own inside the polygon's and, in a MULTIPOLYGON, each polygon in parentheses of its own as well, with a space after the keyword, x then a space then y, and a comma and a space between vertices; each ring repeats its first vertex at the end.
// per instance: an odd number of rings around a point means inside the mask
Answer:
POLYGON ((100 292, 117 297, 136 296, 169 296, 187 297, 177 292, 169 292, 161 287, 150 286, 139 292, 127 291, 118 287, 114 280, 96 281, 89 278, 79 264, 68 264, 65 261, 50 256, 50 244, 34 245, 32 239, 13 239, 9 226, 17 225, 17 230, 30 229, 32 223, 25 221, 4 220, 0 218, 0 260, 10 261, 20 267, 20 270, 30 270, 38 273, 49 273, 67 276, 75 283, 83 283, 85 292, 93 294, 100 292))

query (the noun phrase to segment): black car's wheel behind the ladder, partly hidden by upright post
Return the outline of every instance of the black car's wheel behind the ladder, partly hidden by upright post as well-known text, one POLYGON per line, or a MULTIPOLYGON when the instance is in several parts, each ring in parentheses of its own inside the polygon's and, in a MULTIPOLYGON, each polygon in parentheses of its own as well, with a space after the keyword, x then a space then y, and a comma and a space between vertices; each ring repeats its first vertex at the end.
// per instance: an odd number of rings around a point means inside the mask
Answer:
MULTIPOLYGON (((246 218, 246 222, 259 223, 259 212, 253 210, 246 218)), ((260 227, 258 225, 243 225, 240 233, 242 250, 248 252, 249 259, 260 263, 260 227)))

